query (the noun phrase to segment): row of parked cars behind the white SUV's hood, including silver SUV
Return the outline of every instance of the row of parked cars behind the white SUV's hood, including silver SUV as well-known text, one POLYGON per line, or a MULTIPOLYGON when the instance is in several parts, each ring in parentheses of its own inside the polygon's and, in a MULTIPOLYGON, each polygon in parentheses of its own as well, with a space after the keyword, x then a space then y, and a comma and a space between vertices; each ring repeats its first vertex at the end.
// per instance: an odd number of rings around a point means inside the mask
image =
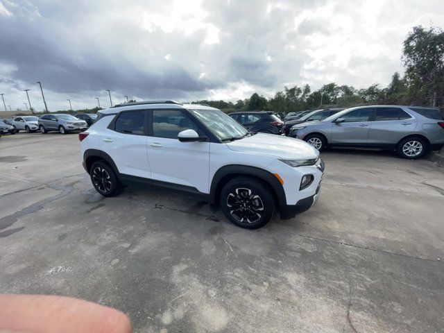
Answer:
POLYGON ((271 121, 273 113, 233 112, 230 116, 252 132, 302 139, 318 151, 334 146, 386 148, 414 160, 444 146, 444 117, 437 108, 368 105, 302 111, 289 114, 284 123, 271 121))

